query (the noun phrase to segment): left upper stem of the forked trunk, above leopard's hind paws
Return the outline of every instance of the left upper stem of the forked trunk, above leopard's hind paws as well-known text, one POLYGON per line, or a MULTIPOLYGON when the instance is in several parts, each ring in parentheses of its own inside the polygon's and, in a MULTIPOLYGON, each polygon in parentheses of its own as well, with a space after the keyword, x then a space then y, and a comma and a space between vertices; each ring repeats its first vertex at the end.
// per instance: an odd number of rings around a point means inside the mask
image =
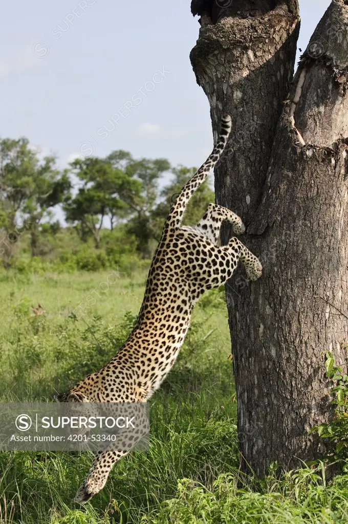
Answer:
POLYGON ((257 209, 266 179, 282 101, 293 76, 299 26, 297 1, 281 1, 261 17, 227 17, 202 27, 190 54, 210 103, 215 136, 223 110, 232 116, 233 140, 215 171, 216 194, 245 224, 257 209))

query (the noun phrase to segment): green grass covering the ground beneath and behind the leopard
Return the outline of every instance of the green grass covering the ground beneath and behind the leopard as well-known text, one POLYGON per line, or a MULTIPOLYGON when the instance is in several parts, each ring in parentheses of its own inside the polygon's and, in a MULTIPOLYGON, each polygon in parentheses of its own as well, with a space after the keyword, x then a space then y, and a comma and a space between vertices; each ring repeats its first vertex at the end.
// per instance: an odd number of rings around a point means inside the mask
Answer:
MULTIPOLYGON (((132 328, 146 272, 112 279, 83 318, 72 311, 111 271, 0 274, 0 400, 51 400, 105 364, 132 328), (45 315, 32 316, 40 302, 45 315), (128 313, 127 313, 128 312, 128 313), (126 314, 127 313, 127 314, 126 314)), ((238 474, 229 329, 221 294, 206 294, 178 361, 150 402, 150 450, 116 466, 81 508, 73 496, 92 455, 0 453, 0 523, 346 523, 348 476, 326 485, 303 469, 246 483, 238 474)))

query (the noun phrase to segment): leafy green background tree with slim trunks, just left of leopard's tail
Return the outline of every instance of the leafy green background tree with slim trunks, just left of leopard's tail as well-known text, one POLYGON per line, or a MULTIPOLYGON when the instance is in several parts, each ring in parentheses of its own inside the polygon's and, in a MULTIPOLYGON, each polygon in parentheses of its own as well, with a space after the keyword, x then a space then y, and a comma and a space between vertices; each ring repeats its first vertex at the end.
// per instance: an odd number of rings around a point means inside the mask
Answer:
POLYGON ((104 217, 110 219, 112 230, 117 221, 127 218, 129 234, 138 239, 138 252, 149 256, 150 215, 158 199, 158 180, 170 169, 168 160, 135 160, 129 152, 118 150, 104 159, 77 159, 71 167, 82 186, 64 210, 69 222, 80 224, 81 238, 91 233, 98 248, 104 217))

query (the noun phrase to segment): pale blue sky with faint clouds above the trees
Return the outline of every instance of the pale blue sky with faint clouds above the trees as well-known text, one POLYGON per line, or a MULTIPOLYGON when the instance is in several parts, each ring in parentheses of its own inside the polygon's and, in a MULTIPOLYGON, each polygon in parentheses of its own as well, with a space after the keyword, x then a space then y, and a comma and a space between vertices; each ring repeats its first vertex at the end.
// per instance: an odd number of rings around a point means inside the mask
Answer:
MULTIPOLYGON (((298 47, 329 3, 300 0, 298 47)), ((187 166, 209 154, 209 104, 189 60, 199 31, 190 0, 17 0, 1 14, 1 137, 27 136, 61 166, 79 151, 126 149, 187 166)))

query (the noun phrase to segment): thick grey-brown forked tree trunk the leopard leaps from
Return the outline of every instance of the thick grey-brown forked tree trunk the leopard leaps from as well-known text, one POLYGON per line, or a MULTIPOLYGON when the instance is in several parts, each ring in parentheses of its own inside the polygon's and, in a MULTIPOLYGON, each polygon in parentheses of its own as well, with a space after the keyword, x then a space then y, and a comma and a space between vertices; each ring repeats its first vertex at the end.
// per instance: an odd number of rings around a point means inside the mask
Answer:
POLYGON ((257 283, 241 273, 226 287, 243 469, 258 475, 327 452, 307 434, 330 418, 324 353, 346 366, 348 2, 333 0, 288 93, 297 35, 284 1, 203 27, 191 52, 214 132, 222 111, 235 124, 216 200, 249 224, 264 265, 257 283))

